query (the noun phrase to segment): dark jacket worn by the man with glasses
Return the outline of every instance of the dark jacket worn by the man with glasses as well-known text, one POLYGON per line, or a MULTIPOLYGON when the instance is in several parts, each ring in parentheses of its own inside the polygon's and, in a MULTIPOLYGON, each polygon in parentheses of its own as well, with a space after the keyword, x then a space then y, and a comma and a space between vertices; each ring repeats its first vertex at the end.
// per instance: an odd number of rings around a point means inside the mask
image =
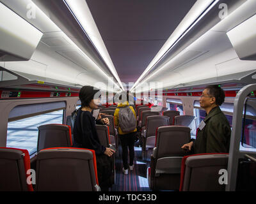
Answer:
POLYGON ((231 129, 220 107, 212 108, 204 122, 204 128, 198 129, 196 140, 193 141, 194 153, 228 153, 231 129))

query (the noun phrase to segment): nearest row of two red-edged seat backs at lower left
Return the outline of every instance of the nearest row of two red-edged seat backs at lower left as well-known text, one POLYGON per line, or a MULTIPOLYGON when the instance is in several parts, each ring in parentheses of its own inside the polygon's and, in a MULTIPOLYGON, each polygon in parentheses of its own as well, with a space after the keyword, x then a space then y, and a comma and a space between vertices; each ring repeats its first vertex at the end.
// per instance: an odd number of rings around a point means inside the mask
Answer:
POLYGON ((94 150, 42 149, 30 173, 28 150, 0 147, 0 191, 100 191, 94 150))

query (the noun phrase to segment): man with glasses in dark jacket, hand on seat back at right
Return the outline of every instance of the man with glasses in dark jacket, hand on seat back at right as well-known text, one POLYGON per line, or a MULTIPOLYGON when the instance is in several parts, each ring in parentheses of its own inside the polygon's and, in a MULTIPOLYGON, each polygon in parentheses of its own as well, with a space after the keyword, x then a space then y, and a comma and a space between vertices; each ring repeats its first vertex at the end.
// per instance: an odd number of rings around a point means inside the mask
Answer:
POLYGON ((204 108, 206 117, 198 126, 196 140, 184 144, 181 148, 200 153, 228 153, 231 129, 227 118, 221 112, 221 104, 225 100, 225 92, 218 85, 209 85, 202 92, 200 106, 204 108))

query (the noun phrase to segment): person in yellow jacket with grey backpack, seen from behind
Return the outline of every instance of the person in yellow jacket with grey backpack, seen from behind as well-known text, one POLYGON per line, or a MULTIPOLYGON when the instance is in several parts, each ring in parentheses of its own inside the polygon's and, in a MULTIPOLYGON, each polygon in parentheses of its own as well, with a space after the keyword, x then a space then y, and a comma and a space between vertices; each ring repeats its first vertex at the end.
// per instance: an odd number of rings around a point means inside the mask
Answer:
POLYGON ((118 127, 118 135, 122 145, 123 172, 128 174, 128 168, 133 170, 134 164, 134 138, 137 133, 136 113, 134 108, 129 105, 129 94, 122 93, 119 97, 118 106, 115 110, 115 126, 118 127), (125 98, 126 95, 126 98, 125 98), (129 165, 128 165, 128 149, 129 149, 129 165))

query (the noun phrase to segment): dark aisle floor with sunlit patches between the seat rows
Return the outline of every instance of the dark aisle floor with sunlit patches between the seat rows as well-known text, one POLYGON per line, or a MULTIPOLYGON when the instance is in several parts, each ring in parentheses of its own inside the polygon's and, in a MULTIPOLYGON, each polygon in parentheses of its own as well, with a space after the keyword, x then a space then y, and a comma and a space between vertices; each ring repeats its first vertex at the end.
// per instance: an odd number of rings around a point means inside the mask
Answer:
MULTIPOLYGON (((143 161, 141 158, 141 147, 134 147, 134 169, 124 175, 122 168, 122 147, 118 147, 118 157, 116 157, 116 184, 111 191, 151 191, 148 187, 147 168, 150 161, 143 161)), ((150 151, 148 151, 148 155, 150 151)))

